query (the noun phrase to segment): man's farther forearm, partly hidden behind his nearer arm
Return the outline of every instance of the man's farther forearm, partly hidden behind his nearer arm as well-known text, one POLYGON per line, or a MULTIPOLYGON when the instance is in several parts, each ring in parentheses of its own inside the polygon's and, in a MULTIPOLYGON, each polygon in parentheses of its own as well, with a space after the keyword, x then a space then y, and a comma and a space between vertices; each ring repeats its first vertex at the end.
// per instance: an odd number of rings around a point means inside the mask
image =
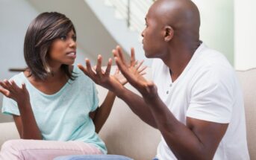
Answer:
POLYGON ((143 100, 143 97, 131 92, 128 89, 122 89, 122 91, 117 92, 116 94, 119 98, 125 101, 128 104, 130 109, 146 124, 157 128, 157 125, 154 121, 149 106, 143 100))

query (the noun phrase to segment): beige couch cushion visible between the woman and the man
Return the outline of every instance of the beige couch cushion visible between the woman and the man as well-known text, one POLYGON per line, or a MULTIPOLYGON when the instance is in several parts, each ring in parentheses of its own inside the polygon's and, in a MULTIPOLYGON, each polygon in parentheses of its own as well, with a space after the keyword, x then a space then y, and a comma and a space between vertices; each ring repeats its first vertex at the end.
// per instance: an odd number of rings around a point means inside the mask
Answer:
MULTIPOLYGON (((107 92, 99 91, 99 95, 107 92)), ((107 145, 108 153, 133 159, 153 159, 160 141, 160 132, 141 121, 119 98, 116 98, 99 135, 107 145)))

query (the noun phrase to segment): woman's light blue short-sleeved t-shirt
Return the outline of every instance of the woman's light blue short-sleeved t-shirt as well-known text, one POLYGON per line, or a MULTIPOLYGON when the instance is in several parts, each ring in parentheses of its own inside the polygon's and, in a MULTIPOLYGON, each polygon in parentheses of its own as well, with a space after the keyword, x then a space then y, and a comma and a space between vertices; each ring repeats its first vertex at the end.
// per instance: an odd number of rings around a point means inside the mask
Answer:
MULTIPOLYGON (((73 71, 77 76, 75 80, 69 80, 54 95, 40 92, 23 73, 13 76, 11 80, 18 86, 25 83, 37 126, 44 140, 84 141, 107 153, 107 148, 96 134, 93 121, 89 117, 89 112, 95 111, 99 106, 95 83, 77 66, 74 66, 73 71)), ((1 112, 20 115, 16 101, 8 97, 3 99, 1 112)))

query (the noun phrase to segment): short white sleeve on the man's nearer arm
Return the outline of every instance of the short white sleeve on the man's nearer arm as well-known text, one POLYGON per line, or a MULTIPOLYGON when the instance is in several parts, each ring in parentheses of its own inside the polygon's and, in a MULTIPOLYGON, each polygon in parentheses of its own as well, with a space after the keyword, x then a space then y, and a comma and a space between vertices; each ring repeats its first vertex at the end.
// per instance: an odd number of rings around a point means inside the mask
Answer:
POLYGON ((228 124, 234 104, 231 77, 207 71, 191 87, 187 117, 228 124))

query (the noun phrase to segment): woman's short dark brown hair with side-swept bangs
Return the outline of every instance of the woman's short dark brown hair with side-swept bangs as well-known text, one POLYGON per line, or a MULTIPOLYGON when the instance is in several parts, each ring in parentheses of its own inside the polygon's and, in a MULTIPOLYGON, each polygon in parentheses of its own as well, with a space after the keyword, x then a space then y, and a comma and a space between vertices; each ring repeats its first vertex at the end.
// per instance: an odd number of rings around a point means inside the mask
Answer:
MULTIPOLYGON (((72 30, 75 33, 75 27, 71 20, 57 12, 41 13, 31 22, 24 42, 24 57, 30 76, 45 80, 51 74, 47 62, 51 44, 54 39, 60 38, 72 30)), ((61 65, 61 69, 67 77, 75 80, 73 72, 69 70, 69 65, 61 65)))

